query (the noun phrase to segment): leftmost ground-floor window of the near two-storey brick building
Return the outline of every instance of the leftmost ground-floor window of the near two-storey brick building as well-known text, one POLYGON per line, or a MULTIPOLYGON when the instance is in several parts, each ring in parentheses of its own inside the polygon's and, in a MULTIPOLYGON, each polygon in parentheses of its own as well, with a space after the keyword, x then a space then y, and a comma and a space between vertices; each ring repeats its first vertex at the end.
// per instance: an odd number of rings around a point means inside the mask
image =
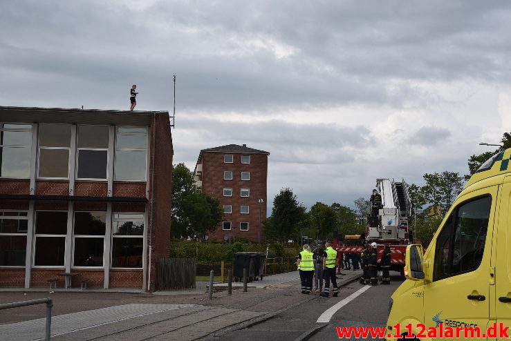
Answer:
POLYGON ((25 266, 26 212, 0 212, 0 266, 25 266))

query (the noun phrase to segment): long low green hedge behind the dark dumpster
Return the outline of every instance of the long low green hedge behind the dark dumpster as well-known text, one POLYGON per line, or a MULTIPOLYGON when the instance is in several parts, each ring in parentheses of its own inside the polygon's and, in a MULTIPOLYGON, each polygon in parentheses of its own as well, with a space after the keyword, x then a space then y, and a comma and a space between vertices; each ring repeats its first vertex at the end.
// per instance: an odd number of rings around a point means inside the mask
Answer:
MULTIPOLYGON (((266 244, 250 244, 235 242, 233 244, 212 242, 177 242, 170 244, 170 257, 196 258, 198 264, 219 264, 221 261, 230 262, 235 252, 262 252, 266 253, 266 244)), ((268 257, 295 257, 297 248, 270 244, 268 257)))

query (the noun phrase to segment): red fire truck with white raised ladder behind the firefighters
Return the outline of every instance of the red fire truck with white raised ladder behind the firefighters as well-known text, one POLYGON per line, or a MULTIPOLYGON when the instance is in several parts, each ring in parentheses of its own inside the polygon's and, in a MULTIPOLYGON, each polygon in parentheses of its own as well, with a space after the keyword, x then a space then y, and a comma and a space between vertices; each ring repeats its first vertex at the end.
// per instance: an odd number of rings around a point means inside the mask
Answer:
POLYGON ((408 184, 402 179, 377 179, 376 190, 382 202, 375 206, 371 202, 368 207, 366 233, 362 235, 346 235, 341 245, 335 238, 333 244, 340 253, 362 253, 364 244, 378 244, 378 263, 382 258, 385 244, 391 246, 391 270, 405 274, 405 251, 411 244, 412 235, 408 229, 408 218, 411 213, 408 184))

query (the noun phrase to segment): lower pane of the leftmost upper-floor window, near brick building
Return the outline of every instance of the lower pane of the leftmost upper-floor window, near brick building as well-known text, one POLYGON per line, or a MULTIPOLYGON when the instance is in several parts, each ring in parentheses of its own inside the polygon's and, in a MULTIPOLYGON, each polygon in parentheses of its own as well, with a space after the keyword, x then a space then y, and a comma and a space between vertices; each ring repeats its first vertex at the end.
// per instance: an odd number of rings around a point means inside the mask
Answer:
POLYGON ((0 147, 0 177, 30 177, 30 147, 0 147))

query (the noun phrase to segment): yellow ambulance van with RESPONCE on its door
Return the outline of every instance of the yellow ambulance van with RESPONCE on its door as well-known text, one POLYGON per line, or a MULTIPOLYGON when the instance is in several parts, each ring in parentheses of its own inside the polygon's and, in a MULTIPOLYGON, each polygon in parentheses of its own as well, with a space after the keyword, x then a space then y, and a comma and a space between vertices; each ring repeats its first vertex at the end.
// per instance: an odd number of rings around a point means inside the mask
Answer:
POLYGON ((511 148, 481 165, 425 253, 420 245, 407 247, 407 280, 391 296, 387 340, 511 336, 510 159, 511 148), (449 334, 456 329, 457 337, 449 334))

